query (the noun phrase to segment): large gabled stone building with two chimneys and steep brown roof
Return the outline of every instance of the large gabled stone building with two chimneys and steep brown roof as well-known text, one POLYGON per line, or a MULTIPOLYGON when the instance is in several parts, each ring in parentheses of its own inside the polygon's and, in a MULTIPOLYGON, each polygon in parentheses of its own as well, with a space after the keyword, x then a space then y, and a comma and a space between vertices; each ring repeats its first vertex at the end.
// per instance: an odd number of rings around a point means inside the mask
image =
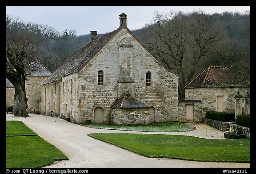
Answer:
POLYGON ((132 34, 122 13, 115 31, 100 38, 91 31, 90 42, 42 83, 40 112, 76 124, 177 121, 178 77, 132 34))

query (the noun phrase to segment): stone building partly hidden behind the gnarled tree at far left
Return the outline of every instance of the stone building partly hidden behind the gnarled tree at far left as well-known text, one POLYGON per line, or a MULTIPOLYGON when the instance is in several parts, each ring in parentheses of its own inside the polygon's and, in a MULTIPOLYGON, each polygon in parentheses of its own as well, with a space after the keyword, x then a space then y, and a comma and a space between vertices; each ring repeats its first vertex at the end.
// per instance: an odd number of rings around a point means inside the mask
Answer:
MULTIPOLYGON (((52 72, 48 70, 38 59, 36 59, 36 68, 26 71, 26 97, 28 98, 27 112, 28 113, 40 113, 41 106, 41 84, 49 77, 52 72)), ((14 104, 14 86, 11 81, 5 79, 5 106, 13 106, 14 104)))

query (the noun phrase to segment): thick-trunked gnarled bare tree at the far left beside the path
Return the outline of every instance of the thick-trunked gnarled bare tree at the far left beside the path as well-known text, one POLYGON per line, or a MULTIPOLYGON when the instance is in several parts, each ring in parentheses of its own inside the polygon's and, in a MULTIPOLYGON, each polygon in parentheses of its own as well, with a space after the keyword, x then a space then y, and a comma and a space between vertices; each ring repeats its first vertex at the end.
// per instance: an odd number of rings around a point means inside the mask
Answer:
POLYGON ((25 39, 12 39, 6 45, 5 77, 14 85, 14 116, 29 116, 27 113, 27 97, 25 89, 26 71, 35 70, 36 58, 33 57, 33 47, 25 39))

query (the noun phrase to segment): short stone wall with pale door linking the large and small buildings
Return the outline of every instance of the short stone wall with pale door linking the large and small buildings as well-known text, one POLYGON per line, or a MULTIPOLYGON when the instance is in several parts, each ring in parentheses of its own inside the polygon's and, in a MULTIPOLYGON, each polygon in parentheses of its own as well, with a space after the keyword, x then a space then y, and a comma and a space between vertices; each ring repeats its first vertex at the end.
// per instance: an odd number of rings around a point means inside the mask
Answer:
POLYGON ((199 100, 179 100, 178 101, 178 121, 187 122, 186 120, 186 104, 194 105, 194 122, 200 122, 203 120, 202 117, 202 101, 199 100))

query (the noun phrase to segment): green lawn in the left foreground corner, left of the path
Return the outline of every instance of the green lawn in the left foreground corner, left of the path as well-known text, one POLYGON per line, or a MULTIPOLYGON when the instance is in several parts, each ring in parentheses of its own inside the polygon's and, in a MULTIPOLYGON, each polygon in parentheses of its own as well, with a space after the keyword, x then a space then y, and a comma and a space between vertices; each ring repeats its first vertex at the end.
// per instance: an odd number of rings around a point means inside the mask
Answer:
POLYGON ((6 121, 6 168, 40 168, 68 159, 21 121, 6 121))

